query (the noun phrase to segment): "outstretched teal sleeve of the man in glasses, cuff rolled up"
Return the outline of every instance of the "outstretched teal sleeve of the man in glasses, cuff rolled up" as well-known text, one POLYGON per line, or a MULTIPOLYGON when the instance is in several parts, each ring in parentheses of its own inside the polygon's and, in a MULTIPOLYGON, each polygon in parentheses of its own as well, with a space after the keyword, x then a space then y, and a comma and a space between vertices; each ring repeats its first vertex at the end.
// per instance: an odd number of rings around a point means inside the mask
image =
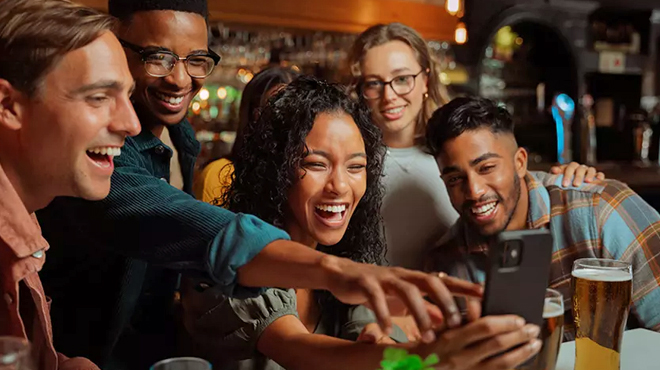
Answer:
POLYGON ((229 296, 259 293, 238 286, 236 271, 267 244, 288 235, 254 216, 195 200, 151 175, 127 152, 117 162, 106 199, 60 198, 39 215, 49 234, 59 234, 64 244, 106 248, 201 274, 229 296))

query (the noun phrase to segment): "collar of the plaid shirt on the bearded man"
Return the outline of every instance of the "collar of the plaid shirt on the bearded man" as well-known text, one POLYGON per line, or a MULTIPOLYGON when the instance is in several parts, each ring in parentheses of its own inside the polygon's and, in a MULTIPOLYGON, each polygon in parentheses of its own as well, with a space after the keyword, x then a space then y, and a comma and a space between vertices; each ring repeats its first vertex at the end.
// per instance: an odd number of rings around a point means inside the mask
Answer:
MULTIPOLYGON (((539 229, 550 223, 550 193, 530 172, 525 174, 525 182, 529 194, 527 228, 539 229)), ((461 222, 459 230, 465 240, 468 253, 485 253, 488 251, 488 238, 472 232, 465 222, 461 222)))

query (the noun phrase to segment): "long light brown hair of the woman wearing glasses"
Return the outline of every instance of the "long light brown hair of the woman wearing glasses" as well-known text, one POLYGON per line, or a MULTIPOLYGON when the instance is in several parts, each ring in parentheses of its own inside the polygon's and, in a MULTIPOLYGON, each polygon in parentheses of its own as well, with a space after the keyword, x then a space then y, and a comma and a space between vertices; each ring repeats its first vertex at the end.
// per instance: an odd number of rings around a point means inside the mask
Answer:
POLYGON ((351 69, 351 86, 359 89, 362 82, 361 63, 369 49, 383 45, 390 41, 401 41, 410 46, 415 53, 417 63, 428 71, 428 97, 424 101, 421 114, 417 116, 416 135, 423 137, 426 122, 433 112, 449 101, 447 89, 440 83, 440 71, 437 63, 429 51, 426 41, 414 29, 401 23, 377 24, 362 32, 353 43, 348 62, 351 69))

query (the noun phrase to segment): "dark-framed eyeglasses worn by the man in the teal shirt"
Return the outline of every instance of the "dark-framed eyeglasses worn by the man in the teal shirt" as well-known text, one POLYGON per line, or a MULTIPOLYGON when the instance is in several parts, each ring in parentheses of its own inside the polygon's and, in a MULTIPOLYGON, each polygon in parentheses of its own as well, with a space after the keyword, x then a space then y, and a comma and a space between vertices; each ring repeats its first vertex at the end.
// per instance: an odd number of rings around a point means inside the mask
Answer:
POLYGON ((213 50, 209 50, 207 54, 191 54, 181 58, 177 54, 162 48, 143 48, 122 39, 119 39, 119 42, 123 47, 140 55, 144 62, 144 69, 153 77, 168 76, 174 70, 176 63, 181 60, 185 64, 186 72, 190 77, 205 78, 213 72, 213 68, 220 62, 220 55, 213 50))

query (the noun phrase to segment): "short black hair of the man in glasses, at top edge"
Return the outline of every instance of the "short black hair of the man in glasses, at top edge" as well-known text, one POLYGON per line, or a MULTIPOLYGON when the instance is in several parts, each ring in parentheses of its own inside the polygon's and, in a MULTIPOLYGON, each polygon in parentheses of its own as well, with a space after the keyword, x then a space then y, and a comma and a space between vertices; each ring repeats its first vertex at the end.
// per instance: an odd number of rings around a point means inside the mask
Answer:
POLYGON ((133 14, 150 10, 174 10, 199 14, 208 19, 206 0, 108 0, 108 12, 121 21, 130 20, 133 14))

